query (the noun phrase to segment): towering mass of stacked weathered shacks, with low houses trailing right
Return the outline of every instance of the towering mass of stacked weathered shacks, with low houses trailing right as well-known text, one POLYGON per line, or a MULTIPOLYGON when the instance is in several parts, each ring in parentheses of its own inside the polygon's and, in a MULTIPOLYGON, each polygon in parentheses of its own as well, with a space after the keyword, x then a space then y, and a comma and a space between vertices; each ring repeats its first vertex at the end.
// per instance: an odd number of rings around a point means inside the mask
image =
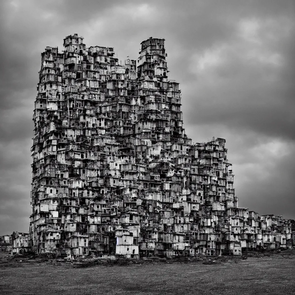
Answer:
POLYGON ((35 253, 174 257, 292 242, 290 220, 238 207, 225 140, 185 134, 164 39, 124 64, 77 34, 63 45, 42 53, 37 86, 35 253))

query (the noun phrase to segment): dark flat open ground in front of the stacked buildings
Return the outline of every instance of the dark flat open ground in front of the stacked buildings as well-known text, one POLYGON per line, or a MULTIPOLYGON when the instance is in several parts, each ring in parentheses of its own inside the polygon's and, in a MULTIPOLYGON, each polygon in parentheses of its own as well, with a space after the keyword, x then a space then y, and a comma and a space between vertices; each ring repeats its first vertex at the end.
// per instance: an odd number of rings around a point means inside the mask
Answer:
POLYGON ((103 264, 6 255, 0 254, 1 295, 295 294, 295 255, 287 251, 103 264))

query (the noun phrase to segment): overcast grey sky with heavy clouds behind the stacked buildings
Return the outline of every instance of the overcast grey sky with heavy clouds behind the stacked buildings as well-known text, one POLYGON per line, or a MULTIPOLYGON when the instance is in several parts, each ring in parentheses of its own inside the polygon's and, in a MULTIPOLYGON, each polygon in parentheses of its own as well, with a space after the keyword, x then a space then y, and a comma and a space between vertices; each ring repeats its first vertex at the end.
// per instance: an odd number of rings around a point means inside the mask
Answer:
POLYGON ((86 46, 137 59, 165 38, 193 142, 226 139, 239 206, 295 219, 294 1, 1 1, 0 235, 28 232, 41 52, 86 46))

